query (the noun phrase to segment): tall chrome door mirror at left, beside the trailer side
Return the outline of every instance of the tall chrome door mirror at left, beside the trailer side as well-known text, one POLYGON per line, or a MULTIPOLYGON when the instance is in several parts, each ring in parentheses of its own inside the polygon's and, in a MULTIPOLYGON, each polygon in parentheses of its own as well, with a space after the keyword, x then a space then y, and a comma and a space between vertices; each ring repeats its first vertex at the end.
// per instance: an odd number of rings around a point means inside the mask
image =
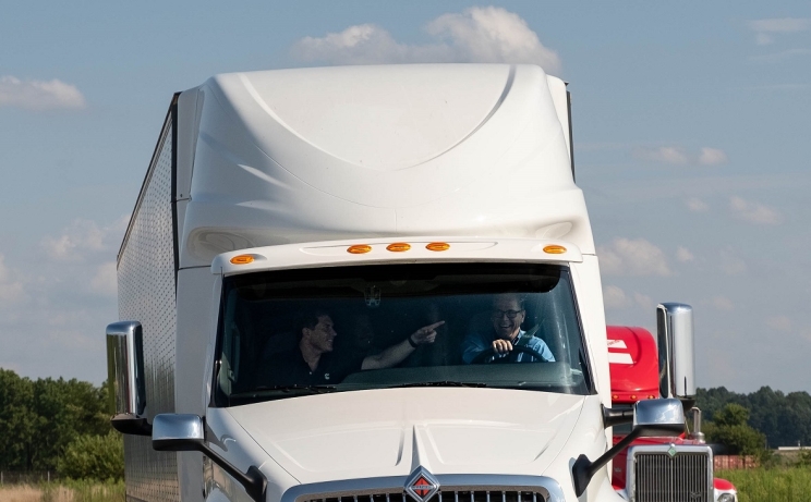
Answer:
POLYGON ((125 434, 149 436, 142 339, 141 322, 113 322, 107 327, 107 384, 112 427, 125 434))

